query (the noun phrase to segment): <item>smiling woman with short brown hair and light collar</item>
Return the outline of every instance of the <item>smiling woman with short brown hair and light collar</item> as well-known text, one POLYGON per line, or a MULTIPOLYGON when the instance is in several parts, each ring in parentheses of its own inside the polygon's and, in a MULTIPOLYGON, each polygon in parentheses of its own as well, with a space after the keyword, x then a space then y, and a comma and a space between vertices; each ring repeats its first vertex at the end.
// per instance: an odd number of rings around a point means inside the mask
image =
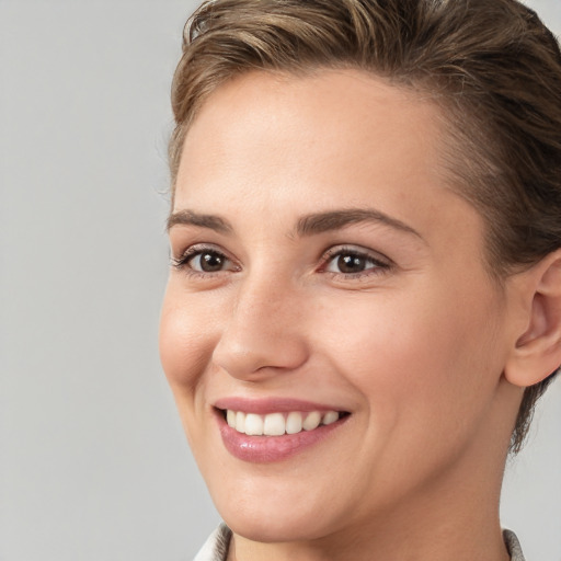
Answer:
POLYGON ((523 560, 561 364, 561 55, 515 0, 216 0, 173 83, 161 356, 197 560, 523 560))

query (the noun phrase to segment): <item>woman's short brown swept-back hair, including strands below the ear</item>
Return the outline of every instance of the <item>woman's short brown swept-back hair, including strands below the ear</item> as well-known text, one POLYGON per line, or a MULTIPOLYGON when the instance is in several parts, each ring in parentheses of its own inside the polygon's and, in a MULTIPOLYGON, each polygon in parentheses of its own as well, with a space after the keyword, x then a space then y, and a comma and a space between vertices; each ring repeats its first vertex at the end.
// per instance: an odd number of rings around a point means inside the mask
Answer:
MULTIPOLYGON (((561 247, 561 54, 517 0, 211 0, 187 21, 172 84, 172 199, 190 124, 254 71, 354 68, 428 95, 450 141, 450 186, 482 215, 499 280, 561 247)), ((526 388, 511 440, 557 375, 526 388)))

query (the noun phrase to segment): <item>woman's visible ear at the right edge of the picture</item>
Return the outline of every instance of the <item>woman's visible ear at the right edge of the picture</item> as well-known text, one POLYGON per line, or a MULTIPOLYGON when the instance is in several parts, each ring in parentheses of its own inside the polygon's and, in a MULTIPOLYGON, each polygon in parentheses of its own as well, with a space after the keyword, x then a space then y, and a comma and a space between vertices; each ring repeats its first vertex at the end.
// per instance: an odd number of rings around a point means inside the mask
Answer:
POLYGON ((522 273, 524 331, 505 365, 515 386, 540 382, 561 365, 561 250, 522 273))

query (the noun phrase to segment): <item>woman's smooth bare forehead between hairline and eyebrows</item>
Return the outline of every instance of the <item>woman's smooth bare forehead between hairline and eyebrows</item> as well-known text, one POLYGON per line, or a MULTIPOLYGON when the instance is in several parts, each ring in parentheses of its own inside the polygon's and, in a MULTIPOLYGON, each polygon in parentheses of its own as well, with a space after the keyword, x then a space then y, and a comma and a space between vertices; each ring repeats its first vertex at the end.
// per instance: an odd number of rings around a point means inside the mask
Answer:
POLYGON ((424 209, 432 220, 444 198, 457 198, 440 173, 439 111, 358 70, 244 75, 192 124, 174 209, 259 204, 278 214, 297 202, 302 213, 374 205, 404 221, 424 209))

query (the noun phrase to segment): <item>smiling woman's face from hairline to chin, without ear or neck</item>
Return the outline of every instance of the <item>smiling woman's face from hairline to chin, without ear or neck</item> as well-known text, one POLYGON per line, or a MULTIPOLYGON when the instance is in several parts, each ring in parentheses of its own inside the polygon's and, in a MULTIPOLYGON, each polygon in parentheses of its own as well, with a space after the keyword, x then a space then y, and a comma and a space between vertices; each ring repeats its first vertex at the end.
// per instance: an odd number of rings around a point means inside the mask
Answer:
POLYGON ((192 125, 161 357, 234 531, 436 512, 506 446, 508 294, 440 140, 432 103, 352 70, 247 75, 192 125))

